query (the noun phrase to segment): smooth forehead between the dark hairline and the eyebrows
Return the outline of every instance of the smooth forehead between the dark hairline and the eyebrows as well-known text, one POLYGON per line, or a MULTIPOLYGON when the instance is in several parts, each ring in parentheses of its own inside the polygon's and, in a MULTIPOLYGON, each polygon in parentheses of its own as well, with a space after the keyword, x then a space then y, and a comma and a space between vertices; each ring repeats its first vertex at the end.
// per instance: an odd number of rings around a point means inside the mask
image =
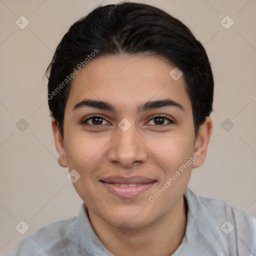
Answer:
POLYGON ((120 110, 137 110, 149 100, 171 98, 191 108, 183 77, 175 80, 175 66, 158 56, 100 56, 90 60, 74 76, 67 104, 84 98, 111 102, 120 110))

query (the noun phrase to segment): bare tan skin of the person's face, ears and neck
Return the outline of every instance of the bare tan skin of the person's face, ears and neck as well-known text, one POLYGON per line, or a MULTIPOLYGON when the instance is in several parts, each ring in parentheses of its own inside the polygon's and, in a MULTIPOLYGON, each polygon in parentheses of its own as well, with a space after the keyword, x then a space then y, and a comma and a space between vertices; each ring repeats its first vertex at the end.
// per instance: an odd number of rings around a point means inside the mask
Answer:
POLYGON ((176 250, 185 233, 187 211, 183 194, 191 168, 204 161, 212 122, 207 117, 198 136, 194 136, 191 103, 183 77, 174 80, 169 75, 173 67, 154 55, 94 58, 72 80, 63 139, 52 118, 58 163, 80 174, 74 188, 88 207, 95 233, 116 256, 167 256, 176 250), (136 112, 138 105, 166 97, 184 110, 165 106, 136 112), (116 112, 94 107, 73 109, 83 99, 107 101, 116 106, 116 112), (104 119, 81 123, 92 114, 104 119), (159 114, 174 123, 167 119, 157 122, 153 117, 159 114), (126 131, 118 126, 123 118, 131 124, 126 131), (150 202, 149 196, 198 151, 200 156, 150 202), (99 181, 110 175, 141 175, 156 182, 138 196, 120 198, 99 181))

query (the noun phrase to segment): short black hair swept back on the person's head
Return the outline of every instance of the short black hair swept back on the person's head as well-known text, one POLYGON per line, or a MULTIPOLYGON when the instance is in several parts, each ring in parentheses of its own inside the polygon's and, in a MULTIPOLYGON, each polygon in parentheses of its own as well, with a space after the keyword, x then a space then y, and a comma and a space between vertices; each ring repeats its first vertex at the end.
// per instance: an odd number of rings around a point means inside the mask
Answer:
POLYGON ((122 2, 99 6, 73 23, 46 70, 50 115, 59 124, 62 137, 71 73, 91 57, 146 53, 164 57, 182 71, 197 136, 213 101, 213 75, 204 47, 187 26, 163 10, 122 2))

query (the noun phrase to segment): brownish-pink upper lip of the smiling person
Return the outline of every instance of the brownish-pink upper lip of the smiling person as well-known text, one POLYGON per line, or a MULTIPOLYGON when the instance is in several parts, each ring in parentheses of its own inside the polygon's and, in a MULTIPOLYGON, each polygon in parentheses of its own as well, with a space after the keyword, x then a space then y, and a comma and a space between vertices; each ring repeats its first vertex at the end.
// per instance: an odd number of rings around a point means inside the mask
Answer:
POLYGON ((107 183, 120 183, 120 184, 138 184, 138 183, 151 183, 156 180, 143 177, 143 176, 130 176, 130 177, 124 177, 124 176, 109 176, 106 178, 101 179, 100 181, 104 181, 107 183))

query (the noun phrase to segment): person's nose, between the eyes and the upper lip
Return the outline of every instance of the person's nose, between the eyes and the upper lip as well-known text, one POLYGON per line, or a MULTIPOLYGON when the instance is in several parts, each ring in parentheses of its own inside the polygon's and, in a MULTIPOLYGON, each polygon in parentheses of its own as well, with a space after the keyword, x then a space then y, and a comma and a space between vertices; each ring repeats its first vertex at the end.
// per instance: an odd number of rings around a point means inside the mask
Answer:
POLYGON ((110 142, 107 158, 108 161, 125 168, 132 168, 134 165, 146 161, 146 144, 143 138, 139 136, 135 125, 131 125, 126 131, 119 127, 116 128, 115 136, 110 142))

